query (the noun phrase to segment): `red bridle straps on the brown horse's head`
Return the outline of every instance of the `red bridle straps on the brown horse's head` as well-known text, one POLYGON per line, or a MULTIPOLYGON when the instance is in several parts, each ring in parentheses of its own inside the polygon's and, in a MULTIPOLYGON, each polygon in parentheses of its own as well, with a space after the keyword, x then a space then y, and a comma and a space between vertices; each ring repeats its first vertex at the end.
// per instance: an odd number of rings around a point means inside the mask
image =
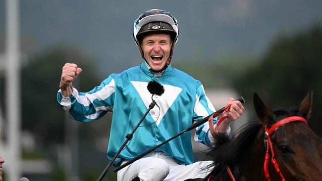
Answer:
POLYGON ((269 150, 271 153, 271 163, 273 164, 276 172, 279 174, 279 176, 281 177, 282 181, 285 181, 281 171, 279 170, 278 164, 276 162, 275 159, 275 154, 274 154, 274 150, 273 150, 273 146, 271 144, 270 141, 270 136, 275 132, 275 130, 277 128, 279 128, 280 126, 289 123, 289 122, 293 122, 293 121, 302 121, 306 124, 308 124, 308 122, 300 116, 291 116, 291 117, 287 117, 285 119, 282 119, 280 121, 278 121, 277 123, 275 123, 269 130, 268 130, 268 126, 265 125, 265 135, 264 135, 264 143, 266 145, 266 155, 265 155, 265 161, 264 161, 264 173, 265 173, 265 177, 268 181, 270 181, 270 177, 269 177, 269 171, 268 171, 268 163, 269 163, 269 150))

